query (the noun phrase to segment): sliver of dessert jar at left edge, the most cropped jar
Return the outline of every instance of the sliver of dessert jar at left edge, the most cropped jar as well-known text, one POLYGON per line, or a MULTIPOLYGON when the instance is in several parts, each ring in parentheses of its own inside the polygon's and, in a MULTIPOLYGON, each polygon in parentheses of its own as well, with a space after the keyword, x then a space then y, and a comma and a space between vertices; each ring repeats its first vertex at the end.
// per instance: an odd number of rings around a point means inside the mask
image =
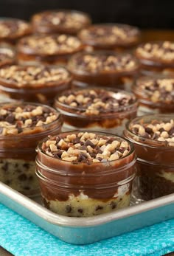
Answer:
POLYGON ((0 68, 15 63, 15 50, 0 44, 0 68))

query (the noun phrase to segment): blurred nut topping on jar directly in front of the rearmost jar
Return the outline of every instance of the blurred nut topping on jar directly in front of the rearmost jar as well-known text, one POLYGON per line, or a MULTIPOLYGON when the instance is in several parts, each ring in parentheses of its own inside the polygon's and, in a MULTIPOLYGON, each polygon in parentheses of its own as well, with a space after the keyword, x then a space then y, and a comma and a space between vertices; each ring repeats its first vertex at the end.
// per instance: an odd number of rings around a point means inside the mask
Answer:
POLYGON ((81 48, 80 40, 71 35, 32 35, 18 42, 18 52, 27 54, 55 55, 81 48))

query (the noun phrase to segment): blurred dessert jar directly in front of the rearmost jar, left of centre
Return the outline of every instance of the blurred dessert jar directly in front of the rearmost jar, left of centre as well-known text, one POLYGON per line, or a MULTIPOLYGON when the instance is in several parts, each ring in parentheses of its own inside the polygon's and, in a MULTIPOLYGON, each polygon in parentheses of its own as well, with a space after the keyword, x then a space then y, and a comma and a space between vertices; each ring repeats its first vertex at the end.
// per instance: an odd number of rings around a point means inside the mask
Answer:
POLYGON ((17 57, 21 64, 64 64, 83 50, 80 39, 72 35, 30 35, 18 41, 17 57))

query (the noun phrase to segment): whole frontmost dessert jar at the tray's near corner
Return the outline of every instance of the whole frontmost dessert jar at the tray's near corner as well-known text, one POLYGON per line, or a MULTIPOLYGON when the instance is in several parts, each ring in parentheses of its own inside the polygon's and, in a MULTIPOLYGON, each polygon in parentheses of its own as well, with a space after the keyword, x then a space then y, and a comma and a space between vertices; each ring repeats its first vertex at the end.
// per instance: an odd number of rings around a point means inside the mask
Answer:
POLYGON ((130 204, 136 156, 126 139, 71 131, 44 139, 37 152, 36 174, 49 210, 89 217, 130 204))

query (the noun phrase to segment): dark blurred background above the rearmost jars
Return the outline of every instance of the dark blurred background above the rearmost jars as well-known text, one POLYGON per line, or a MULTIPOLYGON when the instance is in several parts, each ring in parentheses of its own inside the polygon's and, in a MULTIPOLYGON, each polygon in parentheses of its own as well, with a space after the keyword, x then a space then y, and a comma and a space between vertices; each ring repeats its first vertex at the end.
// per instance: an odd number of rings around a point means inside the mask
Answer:
POLYGON ((29 19, 46 9, 83 10, 94 23, 119 22, 142 28, 174 28, 174 0, 0 0, 0 16, 29 19))

